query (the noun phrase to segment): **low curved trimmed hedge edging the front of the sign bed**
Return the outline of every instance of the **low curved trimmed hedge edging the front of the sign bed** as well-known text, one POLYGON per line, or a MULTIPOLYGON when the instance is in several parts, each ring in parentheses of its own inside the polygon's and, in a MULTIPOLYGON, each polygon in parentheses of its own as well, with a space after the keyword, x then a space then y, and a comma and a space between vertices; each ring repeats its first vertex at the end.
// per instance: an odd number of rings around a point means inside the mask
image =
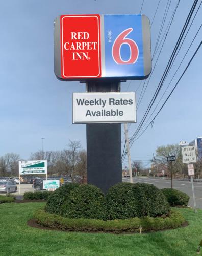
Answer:
POLYGON ((168 217, 135 217, 126 220, 95 220, 95 219, 72 219, 57 214, 49 214, 44 210, 37 210, 34 219, 38 224, 48 228, 67 231, 104 231, 104 232, 139 232, 163 230, 181 227, 185 222, 184 217, 178 211, 172 210, 168 217))

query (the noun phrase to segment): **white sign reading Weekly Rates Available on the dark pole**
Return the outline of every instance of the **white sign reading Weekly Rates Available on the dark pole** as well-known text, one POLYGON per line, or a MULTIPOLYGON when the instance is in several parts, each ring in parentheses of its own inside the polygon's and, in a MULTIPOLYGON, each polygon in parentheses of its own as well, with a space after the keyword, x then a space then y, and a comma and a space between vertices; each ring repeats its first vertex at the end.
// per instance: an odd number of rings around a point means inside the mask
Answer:
POLYGON ((73 123, 135 122, 135 92, 73 93, 73 123))

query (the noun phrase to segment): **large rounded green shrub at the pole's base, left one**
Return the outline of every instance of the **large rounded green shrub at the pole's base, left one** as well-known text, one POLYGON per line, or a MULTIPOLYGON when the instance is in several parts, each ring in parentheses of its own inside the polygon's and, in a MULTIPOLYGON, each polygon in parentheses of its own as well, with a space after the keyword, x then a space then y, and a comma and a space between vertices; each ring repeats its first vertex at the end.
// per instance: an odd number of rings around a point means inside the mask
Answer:
POLYGON ((49 197, 46 211, 69 218, 106 219, 105 197, 96 186, 66 184, 49 197))

